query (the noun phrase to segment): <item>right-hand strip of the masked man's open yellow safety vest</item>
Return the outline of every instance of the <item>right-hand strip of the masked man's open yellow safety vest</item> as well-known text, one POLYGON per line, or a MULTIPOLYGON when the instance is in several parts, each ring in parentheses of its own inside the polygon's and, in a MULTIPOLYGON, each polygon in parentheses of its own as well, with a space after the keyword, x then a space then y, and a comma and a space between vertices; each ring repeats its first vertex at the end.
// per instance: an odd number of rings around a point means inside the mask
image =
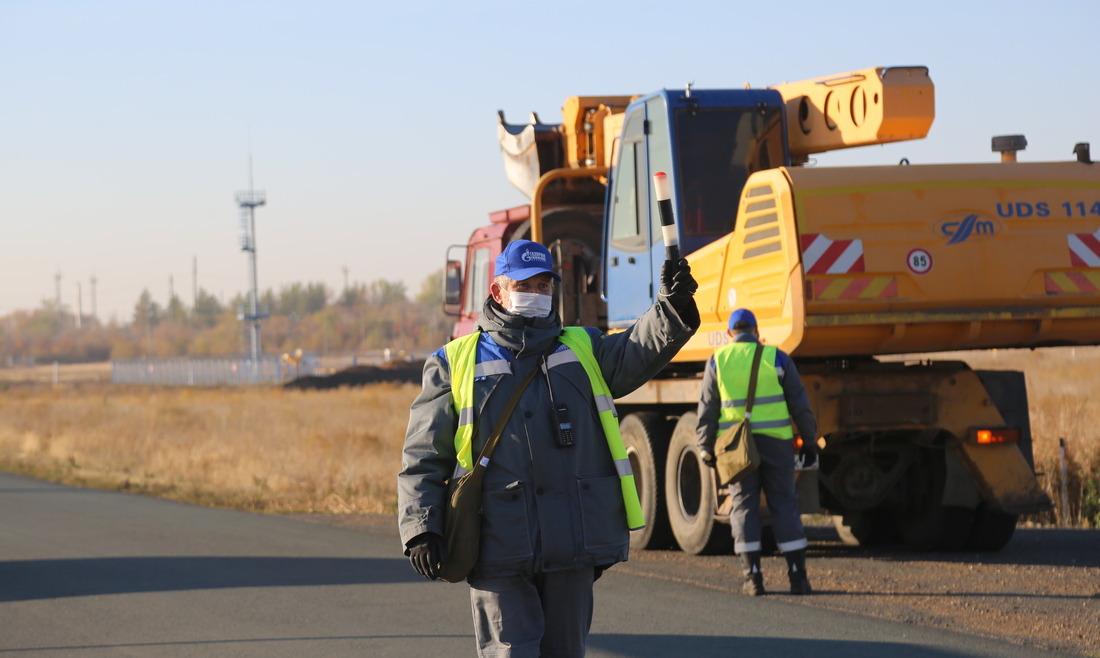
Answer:
POLYGON ((604 381, 604 374, 592 353, 592 338, 582 327, 566 327, 559 340, 581 360, 584 372, 592 385, 596 409, 600 412, 600 425, 604 428, 607 448, 615 460, 615 470, 619 475, 619 486, 623 490, 623 504, 626 507, 626 525, 631 530, 646 527, 646 517, 641 513, 641 502, 638 500, 638 487, 634 483, 634 470, 630 458, 623 445, 623 435, 618 429, 618 414, 615 412, 615 401, 604 381))

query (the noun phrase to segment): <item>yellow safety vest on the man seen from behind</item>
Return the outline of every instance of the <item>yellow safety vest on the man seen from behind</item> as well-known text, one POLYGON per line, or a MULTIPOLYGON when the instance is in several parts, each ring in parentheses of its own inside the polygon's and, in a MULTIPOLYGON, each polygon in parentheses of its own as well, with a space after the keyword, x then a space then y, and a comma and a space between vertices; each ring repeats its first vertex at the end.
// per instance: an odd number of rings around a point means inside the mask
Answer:
MULTIPOLYGON (((722 412, 718 414, 718 431, 724 431, 745 418, 745 403, 749 393, 749 369, 752 368, 752 351, 758 343, 734 342, 714 352, 715 379, 722 412)), ((761 346, 760 374, 757 375, 756 396, 752 399, 752 434, 767 435, 777 439, 793 439, 791 413, 783 397, 783 385, 776 371, 776 348, 761 346)))

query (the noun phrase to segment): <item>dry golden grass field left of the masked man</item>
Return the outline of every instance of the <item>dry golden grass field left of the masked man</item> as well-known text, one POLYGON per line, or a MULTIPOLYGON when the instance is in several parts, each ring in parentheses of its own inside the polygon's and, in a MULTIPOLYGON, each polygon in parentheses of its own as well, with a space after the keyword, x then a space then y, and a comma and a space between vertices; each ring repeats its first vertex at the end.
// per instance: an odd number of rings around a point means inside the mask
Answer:
POLYGON ((417 392, 9 383, 0 469, 254 511, 388 513, 417 392))

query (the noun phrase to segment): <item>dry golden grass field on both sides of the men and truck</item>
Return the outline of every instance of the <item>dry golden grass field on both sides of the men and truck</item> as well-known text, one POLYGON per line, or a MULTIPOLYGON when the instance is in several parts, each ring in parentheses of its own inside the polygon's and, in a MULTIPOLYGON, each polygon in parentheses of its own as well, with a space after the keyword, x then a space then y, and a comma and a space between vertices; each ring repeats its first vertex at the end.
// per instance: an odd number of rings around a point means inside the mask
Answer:
MULTIPOLYGON (((1036 469, 1100 516, 1100 348, 937 354, 1027 375, 1036 469)), ((110 384, 107 364, 0 370, 0 469, 265 512, 391 513, 414 384, 331 391, 110 384)))

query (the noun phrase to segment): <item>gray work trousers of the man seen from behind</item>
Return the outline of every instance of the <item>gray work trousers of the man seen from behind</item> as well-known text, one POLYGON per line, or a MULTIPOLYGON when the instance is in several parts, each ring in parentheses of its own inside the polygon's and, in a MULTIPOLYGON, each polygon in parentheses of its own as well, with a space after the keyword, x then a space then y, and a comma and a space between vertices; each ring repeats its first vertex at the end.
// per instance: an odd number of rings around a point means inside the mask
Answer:
POLYGON ((760 550, 760 491, 763 491, 776 544, 783 552, 806 547, 799 515, 799 494, 794 491, 794 451, 790 439, 777 439, 752 434, 760 468, 736 484, 729 485, 734 507, 729 512, 729 526, 734 535, 734 552, 760 550))

